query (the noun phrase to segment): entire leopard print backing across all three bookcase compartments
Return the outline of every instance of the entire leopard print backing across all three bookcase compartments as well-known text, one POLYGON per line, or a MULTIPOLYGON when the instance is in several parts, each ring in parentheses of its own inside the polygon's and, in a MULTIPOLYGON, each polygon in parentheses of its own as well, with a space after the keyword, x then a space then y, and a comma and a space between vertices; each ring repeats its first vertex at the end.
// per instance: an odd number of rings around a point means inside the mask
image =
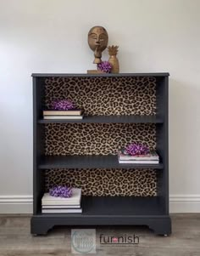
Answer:
MULTIPOLYGON (((155 77, 47 77, 45 107, 53 100, 72 100, 85 115, 155 115, 155 77)), ((47 155, 108 155, 136 142, 156 148, 155 124, 49 123, 47 155)), ((46 191, 54 185, 80 187, 86 196, 156 196, 152 169, 51 169, 46 191)))

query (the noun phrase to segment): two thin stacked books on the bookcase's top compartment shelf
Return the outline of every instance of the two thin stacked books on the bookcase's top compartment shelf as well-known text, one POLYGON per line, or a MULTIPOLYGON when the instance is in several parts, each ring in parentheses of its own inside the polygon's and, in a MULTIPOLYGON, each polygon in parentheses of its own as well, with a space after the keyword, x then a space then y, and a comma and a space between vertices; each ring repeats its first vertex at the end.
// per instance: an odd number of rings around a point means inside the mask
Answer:
POLYGON ((81 110, 70 111, 43 111, 44 119, 82 119, 81 110))

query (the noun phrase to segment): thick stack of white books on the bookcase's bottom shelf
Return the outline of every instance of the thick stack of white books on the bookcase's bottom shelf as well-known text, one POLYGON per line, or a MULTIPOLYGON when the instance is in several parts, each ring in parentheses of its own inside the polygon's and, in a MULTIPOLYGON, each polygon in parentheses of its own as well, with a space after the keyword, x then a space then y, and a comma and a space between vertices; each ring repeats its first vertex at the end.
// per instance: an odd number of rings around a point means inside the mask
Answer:
POLYGON ((45 193, 42 197, 42 213, 82 213, 81 189, 73 188, 69 198, 45 193))

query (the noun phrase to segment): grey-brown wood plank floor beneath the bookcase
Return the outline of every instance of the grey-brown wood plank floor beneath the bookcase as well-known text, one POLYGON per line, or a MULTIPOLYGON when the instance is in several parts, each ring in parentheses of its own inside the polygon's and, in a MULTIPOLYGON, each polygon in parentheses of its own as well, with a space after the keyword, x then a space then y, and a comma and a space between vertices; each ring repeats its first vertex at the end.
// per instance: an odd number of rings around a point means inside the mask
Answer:
MULTIPOLYGON (((173 233, 155 236, 146 227, 98 227, 97 253, 85 255, 200 256, 200 213, 172 215, 173 233), (140 237, 138 245, 100 245, 99 235, 140 237)), ((0 215, 0 256, 68 256, 70 229, 55 228, 47 236, 31 236, 30 216, 0 215)))

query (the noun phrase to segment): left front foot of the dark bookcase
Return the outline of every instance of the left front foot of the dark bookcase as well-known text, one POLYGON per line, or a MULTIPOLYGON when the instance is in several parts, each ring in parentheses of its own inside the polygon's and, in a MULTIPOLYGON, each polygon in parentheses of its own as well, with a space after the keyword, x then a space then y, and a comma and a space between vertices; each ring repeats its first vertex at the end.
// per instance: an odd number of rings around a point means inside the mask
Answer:
POLYGON ((37 235, 47 235, 47 231, 53 228, 53 224, 48 221, 48 219, 37 219, 31 218, 31 234, 33 236, 37 235))

